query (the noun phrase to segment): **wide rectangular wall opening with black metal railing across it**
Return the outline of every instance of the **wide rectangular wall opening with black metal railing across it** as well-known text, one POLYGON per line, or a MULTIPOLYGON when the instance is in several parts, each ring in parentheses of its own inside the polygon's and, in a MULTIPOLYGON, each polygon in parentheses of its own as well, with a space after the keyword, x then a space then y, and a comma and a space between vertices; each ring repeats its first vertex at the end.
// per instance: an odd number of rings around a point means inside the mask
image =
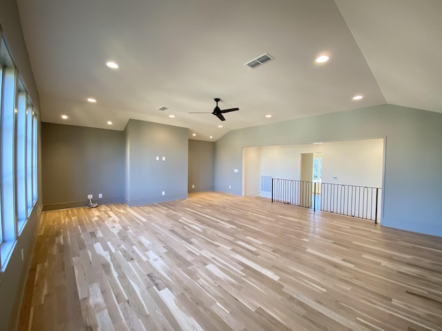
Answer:
MULTIPOLYGON (((367 205, 372 206, 368 214, 376 215, 379 222, 383 206, 384 154, 385 139, 383 138, 329 141, 322 144, 245 147, 242 155, 242 194, 272 198, 273 181, 282 179, 293 182, 289 186, 294 185, 293 189, 290 186, 289 192, 285 192, 285 198, 290 199, 296 205, 302 205, 300 203, 302 200, 305 205, 311 205, 311 207, 315 205, 316 208, 329 211, 332 208, 330 205, 333 204, 333 210, 337 210, 338 207, 346 210, 346 207, 336 205, 337 201, 340 201, 336 197, 340 197, 340 194, 337 196, 336 192, 332 192, 333 190, 344 188, 356 190, 354 187, 361 187, 361 190, 374 188, 378 192, 377 198, 370 198, 373 201, 364 202, 362 209, 366 209, 367 205), (305 157, 308 155, 308 159, 311 157, 311 166, 308 168, 306 161, 301 161, 301 154, 305 157), (304 163, 303 169, 301 169, 302 163, 304 163), (306 187, 302 191, 308 193, 308 197, 303 199, 299 198, 301 190, 298 185, 301 181, 311 183, 311 189, 306 187), (335 199, 332 198, 333 194, 335 199)), ((363 197, 364 192, 361 192, 363 197)), ((344 193, 347 194, 347 191, 344 193)), ((347 203, 346 199, 344 204, 347 203)), ((366 211, 364 213, 367 214, 366 211)), ((356 214, 352 211, 350 216, 354 215, 356 214)))

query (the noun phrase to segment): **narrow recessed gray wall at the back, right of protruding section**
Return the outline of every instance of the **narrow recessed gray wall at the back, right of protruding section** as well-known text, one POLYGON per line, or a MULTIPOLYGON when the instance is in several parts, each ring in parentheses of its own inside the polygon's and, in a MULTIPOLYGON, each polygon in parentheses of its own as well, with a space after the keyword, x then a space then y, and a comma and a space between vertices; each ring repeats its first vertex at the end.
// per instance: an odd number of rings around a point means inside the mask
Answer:
POLYGON ((189 192, 213 191, 214 162, 215 143, 189 140, 189 192))

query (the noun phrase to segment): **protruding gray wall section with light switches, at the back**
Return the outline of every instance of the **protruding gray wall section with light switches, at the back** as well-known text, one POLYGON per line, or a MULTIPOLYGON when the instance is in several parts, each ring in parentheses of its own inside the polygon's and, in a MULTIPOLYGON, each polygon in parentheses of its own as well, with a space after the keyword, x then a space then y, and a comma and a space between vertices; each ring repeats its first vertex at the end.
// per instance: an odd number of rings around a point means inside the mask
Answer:
POLYGON ((130 119, 124 130, 126 203, 143 205, 188 197, 188 129, 130 119))

